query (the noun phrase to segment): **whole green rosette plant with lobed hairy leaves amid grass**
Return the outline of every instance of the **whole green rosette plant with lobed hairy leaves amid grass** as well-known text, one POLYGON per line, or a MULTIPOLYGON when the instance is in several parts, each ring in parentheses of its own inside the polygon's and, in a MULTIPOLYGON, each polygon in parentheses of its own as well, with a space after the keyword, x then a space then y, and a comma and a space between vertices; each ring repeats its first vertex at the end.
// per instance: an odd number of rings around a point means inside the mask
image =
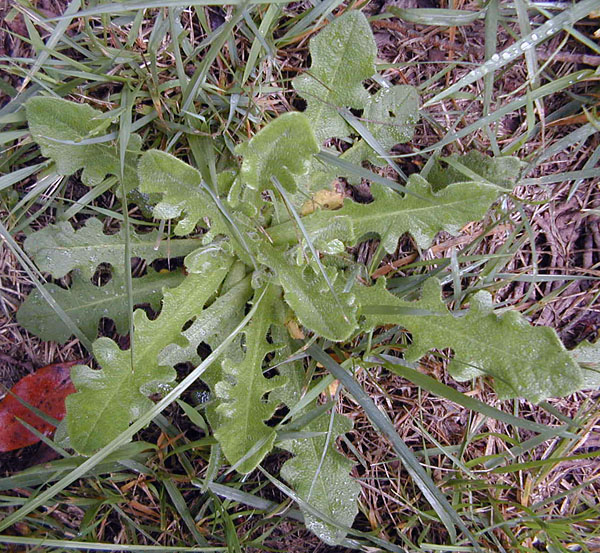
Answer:
MULTIPOLYGON (((207 418, 228 462, 241 473, 254 470, 274 447, 291 452, 281 476, 312 506, 305 512, 308 527, 335 544, 344 537, 340 528, 357 513, 360 487, 350 477, 352 463, 336 450, 336 437, 352 425, 337 414, 305 416, 314 405, 299 402, 311 383, 302 362, 289 360, 295 351, 289 327, 343 342, 399 325, 412 336, 407 359, 450 348, 455 378, 491 376, 503 398, 565 395, 582 387, 584 377, 553 330, 532 327, 517 312, 495 313, 487 292, 456 313, 446 307, 435 278, 424 282, 418 299, 391 293, 383 278, 376 285, 357 279, 346 247, 376 237, 393 252, 399 237, 410 233, 427 248, 438 232, 455 233, 484 217, 516 182, 519 162, 458 157, 454 161, 474 178, 434 169, 430 180, 411 175, 402 192, 385 186, 385 179, 373 182, 369 204, 346 199, 340 209, 319 206, 319 198, 327 197, 323 189, 351 176, 349 163, 380 164, 380 154, 410 139, 418 96, 410 86, 367 90, 376 48, 360 12, 329 24, 310 51, 310 70, 293 82, 306 111, 271 121, 238 146, 239 167, 210 179, 166 152, 142 153, 136 135, 127 155, 119 156, 110 140, 94 140, 105 132, 106 118, 89 106, 37 97, 26 110, 31 134, 56 171, 83 170, 88 186, 108 175, 124 179, 124 190, 154 200, 156 219, 175 223, 168 244, 156 233, 132 232, 132 256, 148 262, 185 256, 185 272, 133 279, 134 301, 161 307, 154 320, 141 309, 133 313, 131 350, 102 337, 93 346, 99 368, 73 368, 77 392, 67 399, 66 417, 71 447, 90 455, 119 435, 151 407, 152 393, 175 380, 176 364, 198 363, 198 346, 219 345, 252 304, 256 310, 242 334, 202 375, 212 392, 207 418), (343 154, 322 153, 325 140, 351 140, 357 132, 360 138, 343 154), (293 416, 278 428, 268 422, 281 405, 293 416), (286 426, 294 432, 279 439, 286 426)), ((102 317, 112 318, 120 332, 127 329, 125 242, 124 232, 107 235, 100 221, 89 219, 78 230, 68 222, 50 225, 25 243, 41 270, 55 278, 72 275, 69 289, 46 286, 90 338, 96 338, 102 317), (102 263, 112 266, 112 280, 97 286, 90 277, 102 263)), ((69 327, 51 317, 37 292, 19 311, 19 321, 32 332, 67 340, 69 327)))

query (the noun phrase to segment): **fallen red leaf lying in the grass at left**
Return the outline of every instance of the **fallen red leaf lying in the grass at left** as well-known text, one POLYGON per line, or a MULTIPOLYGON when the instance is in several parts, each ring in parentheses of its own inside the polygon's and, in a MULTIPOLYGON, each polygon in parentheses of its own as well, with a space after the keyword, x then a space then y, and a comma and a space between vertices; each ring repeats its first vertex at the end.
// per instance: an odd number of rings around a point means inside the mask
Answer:
MULTIPOLYGON (((62 420, 65 416, 65 398, 76 391, 71 382, 70 367, 80 363, 81 361, 69 361, 42 367, 19 380, 11 392, 43 413, 62 420)), ((46 436, 54 432, 53 425, 34 414, 12 394, 6 394, 0 401, 0 451, 12 451, 39 441, 15 417, 46 436)))

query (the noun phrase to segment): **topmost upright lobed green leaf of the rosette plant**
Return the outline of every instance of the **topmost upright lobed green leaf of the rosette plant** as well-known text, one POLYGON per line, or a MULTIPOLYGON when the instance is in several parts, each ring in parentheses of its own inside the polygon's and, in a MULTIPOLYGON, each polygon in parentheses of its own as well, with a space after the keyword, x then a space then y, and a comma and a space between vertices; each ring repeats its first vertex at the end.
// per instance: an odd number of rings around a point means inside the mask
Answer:
POLYGON ((367 18, 350 11, 310 41, 312 65, 296 77, 294 88, 306 100, 317 141, 343 137, 349 127, 336 108, 363 109, 369 93, 363 81, 375 74, 377 47, 367 18))

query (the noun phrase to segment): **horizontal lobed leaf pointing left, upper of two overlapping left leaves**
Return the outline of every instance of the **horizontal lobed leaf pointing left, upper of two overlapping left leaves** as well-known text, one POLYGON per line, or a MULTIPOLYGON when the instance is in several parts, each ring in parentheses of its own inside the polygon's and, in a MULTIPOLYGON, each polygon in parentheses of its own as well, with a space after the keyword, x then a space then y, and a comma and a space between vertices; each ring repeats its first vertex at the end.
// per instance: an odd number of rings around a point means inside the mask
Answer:
MULTIPOLYGON (((131 257, 140 257, 147 263, 187 255, 199 246, 194 239, 162 239, 158 243, 156 230, 147 234, 132 230, 129 238, 131 257)), ((125 231, 104 234, 102 222, 94 217, 79 230, 74 230, 68 222, 48 225, 28 236, 24 246, 39 269, 54 278, 62 278, 74 269, 91 278, 100 263, 110 263, 115 273, 124 272, 125 231)))

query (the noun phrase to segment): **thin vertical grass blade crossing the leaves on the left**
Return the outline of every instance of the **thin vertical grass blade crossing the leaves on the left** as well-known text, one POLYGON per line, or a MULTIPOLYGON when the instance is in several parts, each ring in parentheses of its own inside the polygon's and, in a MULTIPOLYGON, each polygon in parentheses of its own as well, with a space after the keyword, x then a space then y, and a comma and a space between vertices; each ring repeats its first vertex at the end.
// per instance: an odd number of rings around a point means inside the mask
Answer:
POLYGON ((121 116, 119 117, 119 162, 121 169, 121 202, 123 205, 123 230, 125 234, 125 251, 123 259, 123 273, 125 275, 125 286, 127 287, 127 304, 129 318, 129 340, 131 352, 131 368, 133 370, 134 354, 133 347, 135 340, 133 339, 133 279, 131 276, 131 229, 129 227, 129 210, 127 208, 127 190, 125 185, 125 155, 127 154, 127 146, 129 137, 131 136, 131 109, 135 96, 131 94, 128 87, 123 87, 121 92, 121 106, 124 107, 121 116))

